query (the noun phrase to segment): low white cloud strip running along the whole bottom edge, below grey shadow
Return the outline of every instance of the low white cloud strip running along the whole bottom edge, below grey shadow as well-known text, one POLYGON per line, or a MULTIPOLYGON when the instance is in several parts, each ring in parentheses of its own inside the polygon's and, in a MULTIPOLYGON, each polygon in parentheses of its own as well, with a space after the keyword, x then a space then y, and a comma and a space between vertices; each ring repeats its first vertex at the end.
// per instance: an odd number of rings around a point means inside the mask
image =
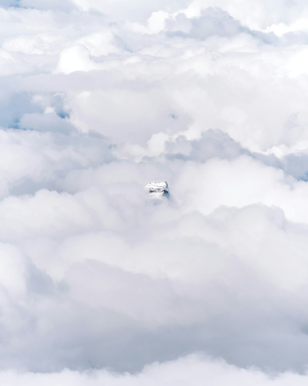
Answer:
POLYGON ((65 370, 54 374, 33 374, 27 373, 20 375, 14 372, 0 373, 0 380, 7 384, 39 385, 65 383, 67 385, 94 386, 98 384, 109 384, 111 386, 131 386, 131 385, 177 385, 194 384, 196 386, 204 384, 224 384, 235 383, 245 385, 263 384, 266 386, 280 386, 289 383, 304 385, 307 382, 307 375, 285 372, 282 374, 264 374, 257 369, 238 369, 226 364, 224 361, 212 360, 202 355, 188 356, 177 361, 164 364, 155 363, 147 366, 142 372, 132 376, 131 374, 116 375, 108 371, 92 371, 88 373, 78 373, 65 370))

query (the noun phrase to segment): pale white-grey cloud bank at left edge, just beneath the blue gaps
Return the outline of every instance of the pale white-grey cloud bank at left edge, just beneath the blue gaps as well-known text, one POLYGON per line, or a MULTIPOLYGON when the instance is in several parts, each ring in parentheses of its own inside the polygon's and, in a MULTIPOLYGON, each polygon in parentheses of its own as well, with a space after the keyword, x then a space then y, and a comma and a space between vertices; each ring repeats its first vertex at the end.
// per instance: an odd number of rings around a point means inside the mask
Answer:
POLYGON ((39 131, 0 130, 0 135, 2 197, 33 194, 42 188, 61 191, 60 181, 70 168, 114 159, 109 144, 100 136, 42 133, 40 127, 39 131))

